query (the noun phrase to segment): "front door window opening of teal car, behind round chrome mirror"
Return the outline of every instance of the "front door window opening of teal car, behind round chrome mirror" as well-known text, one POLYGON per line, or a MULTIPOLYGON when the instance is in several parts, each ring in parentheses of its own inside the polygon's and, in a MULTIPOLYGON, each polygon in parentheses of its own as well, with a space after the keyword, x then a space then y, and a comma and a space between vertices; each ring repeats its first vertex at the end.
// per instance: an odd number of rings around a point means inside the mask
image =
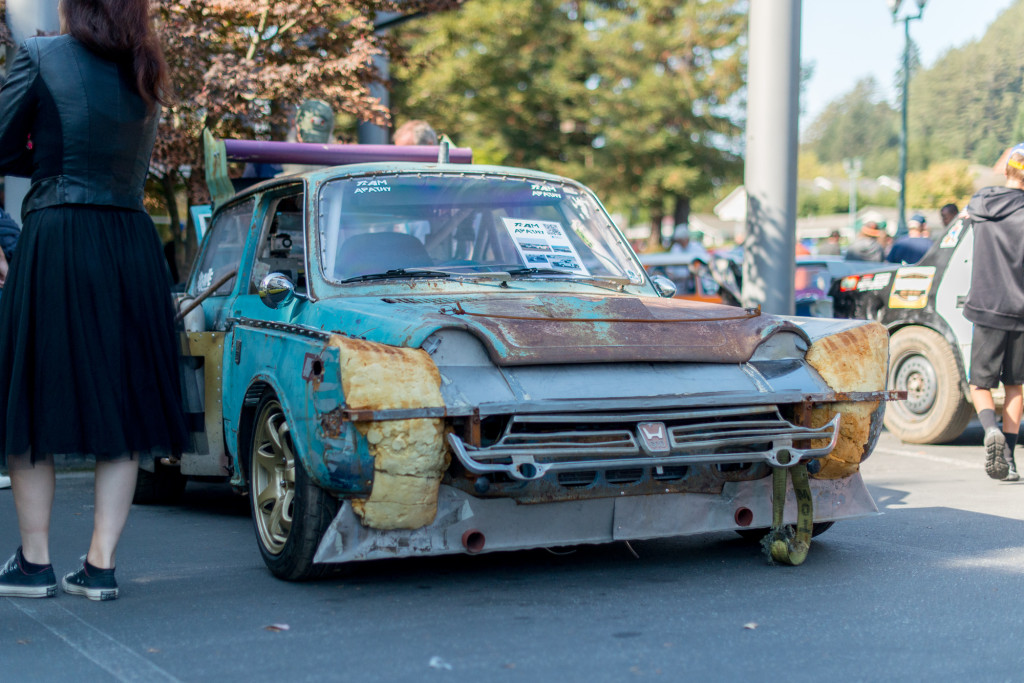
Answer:
POLYGON ((267 214, 260 234, 250 282, 250 293, 268 273, 281 272, 306 292, 305 241, 303 239, 302 193, 282 197, 267 214))

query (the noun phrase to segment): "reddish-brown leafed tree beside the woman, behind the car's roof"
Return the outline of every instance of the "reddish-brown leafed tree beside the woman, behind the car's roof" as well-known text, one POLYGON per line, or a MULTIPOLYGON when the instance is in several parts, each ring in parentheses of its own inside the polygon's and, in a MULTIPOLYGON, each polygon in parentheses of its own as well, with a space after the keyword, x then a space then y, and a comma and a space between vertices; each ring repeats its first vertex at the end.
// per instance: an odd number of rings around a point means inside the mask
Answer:
MULTIPOLYGON (((172 225, 182 169, 188 203, 205 199, 202 130, 218 137, 270 137, 308 97, 335 112, 386 124, 370 94, 372 57, 390 51, 374 22, 415 15, 462 0, 155 0, 172 92, 163 113, 153 172, 172 225)), ((394 55, 392 56, 400 56, 394 55)), ((188 231, 190 232, 190 230, 188 231)))

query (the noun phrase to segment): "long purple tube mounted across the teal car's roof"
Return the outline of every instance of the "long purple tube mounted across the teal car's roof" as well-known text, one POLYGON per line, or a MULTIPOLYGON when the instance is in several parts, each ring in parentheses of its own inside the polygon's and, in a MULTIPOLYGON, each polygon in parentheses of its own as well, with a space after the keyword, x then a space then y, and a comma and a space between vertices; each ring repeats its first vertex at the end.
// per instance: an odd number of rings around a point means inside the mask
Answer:
MULTIPOLYGON (((264 140, 224 140, 224 148, 231 161, 323 166, 391 161, 430 164, 437 163, 440 151, 436 144, 316 144, 264 140)), ((449 163, 472 164, 473 151, 469 147, 449 147, 449 163)))

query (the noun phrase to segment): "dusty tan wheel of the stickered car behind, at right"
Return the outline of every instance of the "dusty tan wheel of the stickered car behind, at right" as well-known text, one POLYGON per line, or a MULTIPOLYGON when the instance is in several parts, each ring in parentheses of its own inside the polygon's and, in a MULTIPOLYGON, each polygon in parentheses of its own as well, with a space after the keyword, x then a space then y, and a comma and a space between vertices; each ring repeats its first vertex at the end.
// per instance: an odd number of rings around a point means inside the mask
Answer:
POLYGON ((886 405, 885 426, 901 441, 951 441, 974 417, 952 347, 929 328, 903 328, 889 340, 888 386, 908 394, 886 405))

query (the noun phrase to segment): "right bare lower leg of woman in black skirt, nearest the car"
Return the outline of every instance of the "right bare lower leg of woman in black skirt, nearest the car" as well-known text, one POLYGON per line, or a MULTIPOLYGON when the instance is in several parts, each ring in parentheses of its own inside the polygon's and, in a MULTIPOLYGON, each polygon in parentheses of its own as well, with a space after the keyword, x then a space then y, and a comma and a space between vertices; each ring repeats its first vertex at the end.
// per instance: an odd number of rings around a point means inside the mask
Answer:
POLYGON ((96 461, 96 513, 92 528, 92 543, 86 559, 100 569, 114 567, 118 541, 135 495, 138 476, 138 458, 96 461))

